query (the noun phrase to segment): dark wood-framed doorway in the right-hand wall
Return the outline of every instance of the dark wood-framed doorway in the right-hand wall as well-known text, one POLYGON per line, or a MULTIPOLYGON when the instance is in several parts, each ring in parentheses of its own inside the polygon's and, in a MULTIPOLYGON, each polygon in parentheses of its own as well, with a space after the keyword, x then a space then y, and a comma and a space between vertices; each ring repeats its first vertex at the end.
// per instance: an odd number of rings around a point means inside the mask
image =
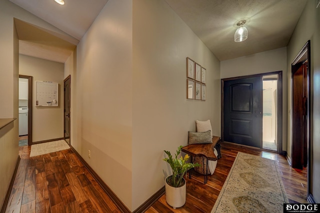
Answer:
MULTIPOLYGON (((307 169, 307 198, 311 189, 310 40, 291 62, 291 166, 307 169)), ((311 202, 312 203, 312 202, 311 202)))

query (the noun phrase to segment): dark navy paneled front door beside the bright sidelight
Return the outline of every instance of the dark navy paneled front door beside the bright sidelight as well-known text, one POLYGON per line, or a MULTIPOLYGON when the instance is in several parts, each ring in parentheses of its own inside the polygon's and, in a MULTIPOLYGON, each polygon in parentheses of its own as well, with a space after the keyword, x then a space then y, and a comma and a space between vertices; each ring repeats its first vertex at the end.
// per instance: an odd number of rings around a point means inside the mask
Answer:
POLYGON ((223 140, 261 147, 261 76, 224 80, 223 140))

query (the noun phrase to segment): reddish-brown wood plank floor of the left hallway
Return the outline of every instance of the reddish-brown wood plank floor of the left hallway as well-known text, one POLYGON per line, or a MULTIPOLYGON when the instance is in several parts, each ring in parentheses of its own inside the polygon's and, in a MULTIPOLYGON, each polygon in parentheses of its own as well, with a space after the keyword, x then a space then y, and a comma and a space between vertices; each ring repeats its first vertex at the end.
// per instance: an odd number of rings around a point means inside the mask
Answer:
POLYGON ((121 212, 71 149, 21 157, 5 212, 121 212))

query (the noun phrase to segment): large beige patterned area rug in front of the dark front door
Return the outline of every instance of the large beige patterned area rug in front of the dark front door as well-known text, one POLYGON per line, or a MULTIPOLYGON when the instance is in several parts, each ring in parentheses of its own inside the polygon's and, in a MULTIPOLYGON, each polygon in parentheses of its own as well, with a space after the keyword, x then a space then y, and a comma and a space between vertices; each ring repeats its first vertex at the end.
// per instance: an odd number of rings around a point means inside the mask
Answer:
POLYGON ((288 203, 276 161, 238 152, 212 212, 282 212, 288 203))

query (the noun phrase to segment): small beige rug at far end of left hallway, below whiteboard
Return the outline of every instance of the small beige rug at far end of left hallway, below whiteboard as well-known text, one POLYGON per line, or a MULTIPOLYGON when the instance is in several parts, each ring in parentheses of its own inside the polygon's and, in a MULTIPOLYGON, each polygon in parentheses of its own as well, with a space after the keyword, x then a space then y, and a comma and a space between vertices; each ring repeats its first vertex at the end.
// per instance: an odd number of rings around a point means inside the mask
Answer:
POLYGON ((60 151, 68 148, 70 148, 70 146, 64 140, 56 140, 52 142, 33 144, 31 145, 30 157, 60 151))

